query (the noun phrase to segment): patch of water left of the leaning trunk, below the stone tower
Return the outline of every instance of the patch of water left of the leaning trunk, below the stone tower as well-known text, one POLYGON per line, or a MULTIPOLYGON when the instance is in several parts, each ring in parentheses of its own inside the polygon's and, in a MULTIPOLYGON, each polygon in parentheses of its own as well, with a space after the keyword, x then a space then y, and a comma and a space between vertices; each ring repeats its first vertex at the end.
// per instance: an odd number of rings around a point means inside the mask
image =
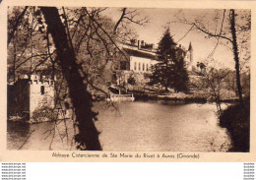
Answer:
POLYGON ((9 150, 71 150, 74 149, 72 146, 74 133, 71 120, 37 124, 8 122, 7 148, 9 150))

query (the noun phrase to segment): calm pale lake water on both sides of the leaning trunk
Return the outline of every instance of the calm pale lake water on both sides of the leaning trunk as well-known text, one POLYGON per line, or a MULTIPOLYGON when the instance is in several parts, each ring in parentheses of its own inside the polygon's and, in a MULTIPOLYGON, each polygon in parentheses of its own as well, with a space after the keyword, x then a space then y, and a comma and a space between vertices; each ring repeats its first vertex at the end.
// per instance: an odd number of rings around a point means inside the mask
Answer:
MULTIPOLYGON (((230 147, 214 104, 136 101, 114 105, 97 102, 94 107, 99 112, 96 128, 103 150, 225 151, 230 147)), ((74 150, 74 134, 72 120, 32 125, 9 122, 8 149, 74 150)))

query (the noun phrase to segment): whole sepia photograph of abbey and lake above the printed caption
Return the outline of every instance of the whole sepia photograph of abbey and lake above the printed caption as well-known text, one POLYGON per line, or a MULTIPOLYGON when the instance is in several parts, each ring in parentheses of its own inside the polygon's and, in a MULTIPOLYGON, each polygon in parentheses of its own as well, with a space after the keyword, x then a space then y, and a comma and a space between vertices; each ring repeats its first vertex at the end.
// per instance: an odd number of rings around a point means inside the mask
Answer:
POLYGON ((7 7, 7 150, 250 152, 251 10, 7 7))

